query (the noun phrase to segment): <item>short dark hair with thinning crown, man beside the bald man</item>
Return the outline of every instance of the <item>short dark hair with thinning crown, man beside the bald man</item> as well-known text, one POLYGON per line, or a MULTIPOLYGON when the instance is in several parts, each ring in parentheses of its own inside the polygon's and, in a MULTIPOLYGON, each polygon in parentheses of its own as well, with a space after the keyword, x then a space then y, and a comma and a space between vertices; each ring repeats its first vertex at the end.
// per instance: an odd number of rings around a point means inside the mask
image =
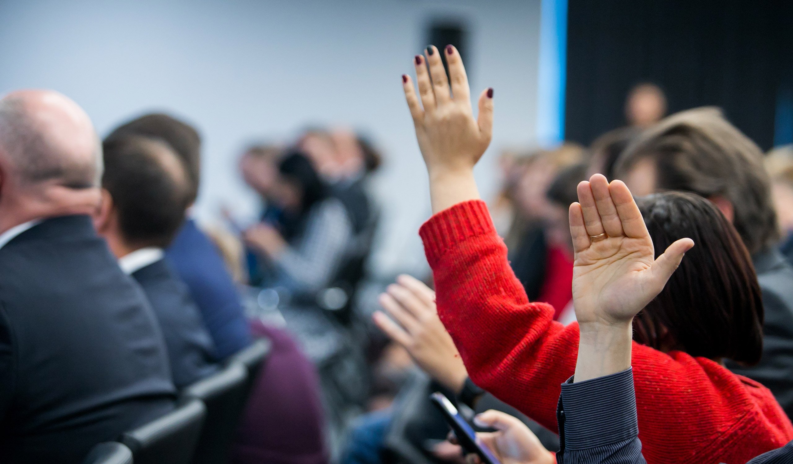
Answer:
POLYGON ((113 197, 125 242, 165 248, 190 206, 190 180, 166 143, 129 135, 105 140, 102 187, 113 197))

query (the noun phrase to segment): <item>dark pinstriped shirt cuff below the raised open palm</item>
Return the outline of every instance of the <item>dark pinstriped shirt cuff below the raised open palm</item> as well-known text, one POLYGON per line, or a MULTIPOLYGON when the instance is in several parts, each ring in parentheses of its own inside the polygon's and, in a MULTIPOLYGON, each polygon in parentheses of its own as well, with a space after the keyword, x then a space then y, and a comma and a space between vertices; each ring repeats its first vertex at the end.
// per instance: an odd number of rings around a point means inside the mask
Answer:
POLYGON ((616 374, 561 384, 565 448, 583 450, 638 435, 632 368, 616 374))

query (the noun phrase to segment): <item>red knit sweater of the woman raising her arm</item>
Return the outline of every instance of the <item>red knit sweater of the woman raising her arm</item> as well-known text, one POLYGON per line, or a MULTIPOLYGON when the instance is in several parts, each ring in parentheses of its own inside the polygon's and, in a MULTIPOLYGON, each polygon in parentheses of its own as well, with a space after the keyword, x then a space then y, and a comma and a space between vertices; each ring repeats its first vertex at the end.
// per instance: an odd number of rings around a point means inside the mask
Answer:
MULTIPOLYGON (((551 430, 561 383, 573 375, 578 325, 529 302, 485 203, 459 203, 419 232, 438 312, 473 382, 551 430)), ((649 464, 744 464, 793 439, 771 392, 710 359, 634 342, 639 438, 649 464)))

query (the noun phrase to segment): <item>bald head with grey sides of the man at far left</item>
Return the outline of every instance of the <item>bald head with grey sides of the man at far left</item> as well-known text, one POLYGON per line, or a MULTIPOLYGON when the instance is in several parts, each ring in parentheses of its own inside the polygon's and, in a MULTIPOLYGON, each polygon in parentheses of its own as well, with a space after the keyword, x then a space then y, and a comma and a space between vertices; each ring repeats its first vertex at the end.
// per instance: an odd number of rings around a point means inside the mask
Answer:
POLYGON ((102 177, 88 115, 52 90, 20 90, 0 100, 0 163, 21 187, 51 182, 82 189, 102 177))

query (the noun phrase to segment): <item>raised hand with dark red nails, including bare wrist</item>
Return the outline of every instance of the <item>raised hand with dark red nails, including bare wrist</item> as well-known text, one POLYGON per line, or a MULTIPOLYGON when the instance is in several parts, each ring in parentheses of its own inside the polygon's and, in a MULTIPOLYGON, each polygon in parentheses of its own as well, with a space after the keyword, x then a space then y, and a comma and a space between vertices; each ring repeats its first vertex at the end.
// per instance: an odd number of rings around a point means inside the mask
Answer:
POLYGON ((435 212, 479 197, 473 182, 473 165, 490 143, 493 117, 493 89, 486 89, 479 96, 479 114, 474 119, 460 54, 451 45, 443 53, 449 64, 449 79, 435 46, 427 47, 426 57, 414 58, 420 104, 411 78, 402 75, 416 139, 430 175, 435 212))

